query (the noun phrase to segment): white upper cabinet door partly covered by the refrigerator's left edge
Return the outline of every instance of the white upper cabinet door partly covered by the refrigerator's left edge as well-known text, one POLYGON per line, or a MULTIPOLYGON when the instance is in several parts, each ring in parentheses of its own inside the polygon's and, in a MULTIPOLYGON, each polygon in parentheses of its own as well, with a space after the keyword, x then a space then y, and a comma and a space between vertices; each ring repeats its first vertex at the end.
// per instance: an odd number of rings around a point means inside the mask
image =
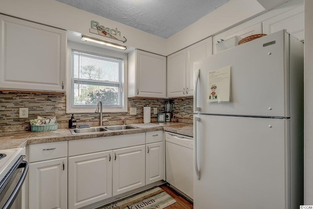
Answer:
POLYGON ((212 55, 212 37, 186 48, 186 96, 194 95, 194 62, 212 55))

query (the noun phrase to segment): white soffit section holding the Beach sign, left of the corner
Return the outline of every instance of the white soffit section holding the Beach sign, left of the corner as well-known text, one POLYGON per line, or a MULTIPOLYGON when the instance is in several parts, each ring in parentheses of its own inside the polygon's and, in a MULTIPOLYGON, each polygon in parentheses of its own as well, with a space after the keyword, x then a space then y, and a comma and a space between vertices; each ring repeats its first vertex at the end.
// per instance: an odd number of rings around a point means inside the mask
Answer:
MULTIPOLYGON (((127 38, 125 43, 127 46, 167 55, 165 49, 166 39, 55 0, 0 0, 0 13, 99 38, 98 35, 89 33, 90 22, 94 20, 106 27, 117 27, 121 31, 121 36, 127 38)), ((112 39, 110 41, 114 42, 112 39)), ((118 41, 116 43, 122 44, 118 41)))

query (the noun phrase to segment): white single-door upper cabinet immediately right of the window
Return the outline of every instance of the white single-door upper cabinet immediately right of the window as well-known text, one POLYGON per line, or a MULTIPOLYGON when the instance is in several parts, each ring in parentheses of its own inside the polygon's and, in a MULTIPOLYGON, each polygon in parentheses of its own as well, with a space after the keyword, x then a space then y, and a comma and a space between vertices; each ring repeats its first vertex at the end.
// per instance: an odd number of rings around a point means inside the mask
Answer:
POLYGON ((134 50, 128 55, 128 97, 166 97, 166 57, 134 50))

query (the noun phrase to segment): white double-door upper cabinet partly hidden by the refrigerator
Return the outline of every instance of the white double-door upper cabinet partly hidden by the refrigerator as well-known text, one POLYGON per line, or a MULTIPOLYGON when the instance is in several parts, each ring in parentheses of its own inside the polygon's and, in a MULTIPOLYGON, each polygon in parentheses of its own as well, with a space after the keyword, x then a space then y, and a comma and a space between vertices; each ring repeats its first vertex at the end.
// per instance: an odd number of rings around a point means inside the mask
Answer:
POLYGON ((167 97, 194 95, 194 62, 212 55, 212 37, 167 57, 167 97))

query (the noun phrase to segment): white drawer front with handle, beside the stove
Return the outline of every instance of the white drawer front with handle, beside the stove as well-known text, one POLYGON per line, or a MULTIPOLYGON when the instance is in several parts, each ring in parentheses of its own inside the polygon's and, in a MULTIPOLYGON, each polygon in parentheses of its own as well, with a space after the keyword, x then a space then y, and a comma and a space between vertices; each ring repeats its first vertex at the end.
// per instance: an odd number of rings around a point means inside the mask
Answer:
POLYGON ((67 157, 67 141, 29 145, 29 163, 67 157))

